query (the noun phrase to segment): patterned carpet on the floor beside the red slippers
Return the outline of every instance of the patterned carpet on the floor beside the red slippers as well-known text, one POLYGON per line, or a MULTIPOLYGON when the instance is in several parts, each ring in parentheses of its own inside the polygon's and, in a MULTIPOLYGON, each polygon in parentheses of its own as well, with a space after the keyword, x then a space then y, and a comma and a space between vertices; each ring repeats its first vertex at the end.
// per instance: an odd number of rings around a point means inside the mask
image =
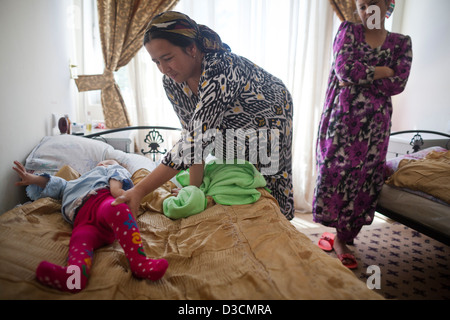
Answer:
MULTIPOLYGON (((333 232, 308 224, 296 227, 314 243, 324 231, 333 232)), ((450 300, 449 246, 401 224, 378 221, 364 227, 349 248, 359 264, 355 275, 369 285, 379 284, 374 290, 386 299, 450 300), (377 271, 381 277, 376 278, 377 271)), ((336 257, 334 252, 328 254, 336 257)))

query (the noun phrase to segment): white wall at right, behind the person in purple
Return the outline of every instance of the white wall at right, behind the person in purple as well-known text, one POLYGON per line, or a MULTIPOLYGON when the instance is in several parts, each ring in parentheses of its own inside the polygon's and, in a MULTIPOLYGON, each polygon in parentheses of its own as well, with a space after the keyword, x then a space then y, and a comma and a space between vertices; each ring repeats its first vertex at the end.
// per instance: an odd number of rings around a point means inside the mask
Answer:
POLYGON ((393 100, 392 130, 450 133, 450 1, 403 0, 402 6, 398 29, 411 36, 414 60, 406 90, 393 100))

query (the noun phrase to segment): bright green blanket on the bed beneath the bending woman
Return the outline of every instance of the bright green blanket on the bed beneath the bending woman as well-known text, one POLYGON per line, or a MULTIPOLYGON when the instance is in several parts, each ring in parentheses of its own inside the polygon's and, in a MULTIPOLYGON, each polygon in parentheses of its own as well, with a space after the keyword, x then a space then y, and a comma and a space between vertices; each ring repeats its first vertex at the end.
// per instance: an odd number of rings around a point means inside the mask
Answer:
POLYGON ((176 197, 164 200, 164 214, 172 219, 186 218, 206 209, 206 196, 224 205, 250 204, 258 201, 266 180, 255 166, 245 161, 232 164, 212 160, 205 165, 200 188, 189 186, 189 171, 181 171, 177 181, 183 186, 176 197))

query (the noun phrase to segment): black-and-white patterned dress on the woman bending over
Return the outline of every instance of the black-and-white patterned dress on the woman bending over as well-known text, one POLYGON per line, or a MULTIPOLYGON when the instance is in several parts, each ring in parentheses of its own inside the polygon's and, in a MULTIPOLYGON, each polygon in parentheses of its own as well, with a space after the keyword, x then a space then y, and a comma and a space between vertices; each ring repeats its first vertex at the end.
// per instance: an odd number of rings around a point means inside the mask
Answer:
POLYGON ((281 80, 228 51, 205 54, 202 71, 197 95, 186 83, 163 78, 183 134, 162 163, 185 170, 208 153, 226 161, 247 160, 264 175, 281 212, 292 219, 290 93, 281 80))

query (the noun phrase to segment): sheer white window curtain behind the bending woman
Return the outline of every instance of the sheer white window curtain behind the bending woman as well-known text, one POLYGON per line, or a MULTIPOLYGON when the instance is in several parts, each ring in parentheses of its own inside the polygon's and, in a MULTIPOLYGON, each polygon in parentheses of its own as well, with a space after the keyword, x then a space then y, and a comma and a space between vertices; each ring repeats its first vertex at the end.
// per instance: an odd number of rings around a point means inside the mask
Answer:
MULTIPOLYGON (((234 53, 286 84, 294 99, 295 207, 311 212, 317 127, 335 27, 329 0, 182 0, 174 10, 208 25, 234 53)), ((129 64, 129 71, 138 124, 179 127, 162 88, 162 75, 145 49, 129 64)))

